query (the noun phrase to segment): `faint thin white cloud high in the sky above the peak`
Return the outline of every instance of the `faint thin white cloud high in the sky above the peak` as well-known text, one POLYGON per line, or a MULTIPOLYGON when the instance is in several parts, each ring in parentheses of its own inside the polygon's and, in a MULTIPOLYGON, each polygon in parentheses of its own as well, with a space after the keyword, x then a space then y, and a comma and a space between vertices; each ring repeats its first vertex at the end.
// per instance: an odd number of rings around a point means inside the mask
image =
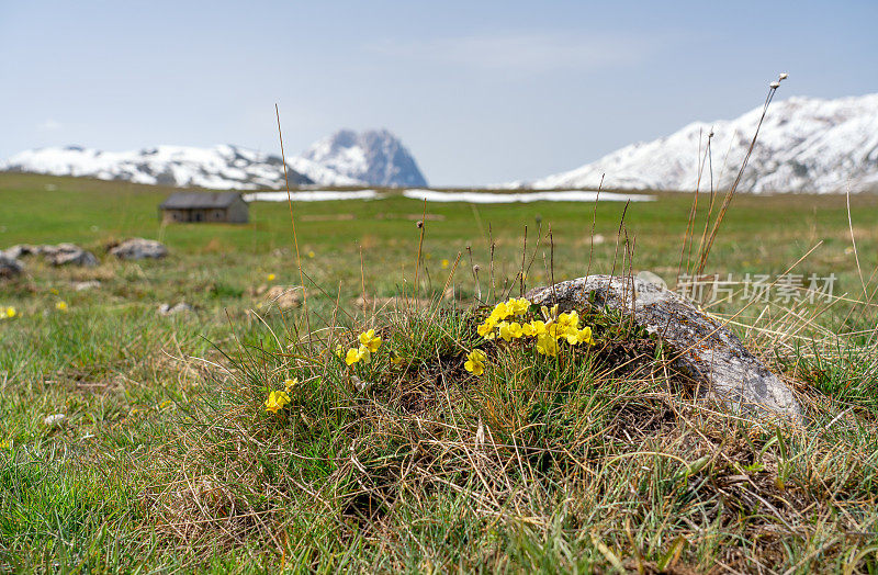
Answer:
POLYGON ((608 66, 637 64, 654 49, 655 42, 607 35, 573 37, 549 34, 500 34, 387 41, 365 49, 389 56, 464 66, 483 70, 540 74, 554 70, 589 71, 608 66))

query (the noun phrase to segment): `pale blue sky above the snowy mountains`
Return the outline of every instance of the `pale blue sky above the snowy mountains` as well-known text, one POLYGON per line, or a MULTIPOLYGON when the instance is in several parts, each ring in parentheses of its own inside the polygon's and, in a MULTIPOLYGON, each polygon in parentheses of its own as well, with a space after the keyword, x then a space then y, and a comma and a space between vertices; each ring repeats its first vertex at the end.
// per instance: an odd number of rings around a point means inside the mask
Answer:
POLYGON ((778 98, 878 92, 878 2, 0 2, 0 157, 288 153, 387 127, 432 184, 531 179, 778 98))

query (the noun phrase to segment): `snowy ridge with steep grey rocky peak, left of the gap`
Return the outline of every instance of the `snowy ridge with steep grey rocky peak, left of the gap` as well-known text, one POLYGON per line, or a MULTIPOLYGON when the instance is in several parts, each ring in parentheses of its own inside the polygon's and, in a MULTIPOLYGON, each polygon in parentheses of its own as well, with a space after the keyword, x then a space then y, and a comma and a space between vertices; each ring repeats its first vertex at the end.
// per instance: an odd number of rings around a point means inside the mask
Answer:
MULTIPOLYGON (((288 158, 286 168, 290 185, 407 185, 408 180, 421 182, 418 185, 426 183, 415 160, 386 131, 341 131, 317 142, 302 156, 288 158)), ((131 151, 41 148, 0 161, 0 170, 215 190, 284 185, 280 156, 229 145, 158 146, 131 151)))

